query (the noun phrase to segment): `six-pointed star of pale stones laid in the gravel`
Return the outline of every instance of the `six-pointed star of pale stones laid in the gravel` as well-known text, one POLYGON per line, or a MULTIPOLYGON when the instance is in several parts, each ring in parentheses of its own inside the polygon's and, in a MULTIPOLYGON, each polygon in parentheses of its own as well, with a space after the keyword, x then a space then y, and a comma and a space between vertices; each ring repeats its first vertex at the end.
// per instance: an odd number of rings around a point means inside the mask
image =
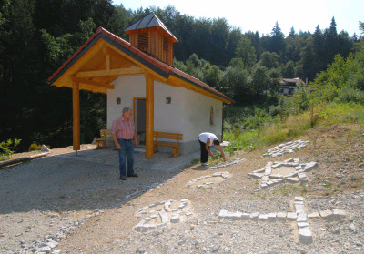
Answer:
POLYGON ((314 161, 309 163, 300 163, 299 161, 299 158, 289 158, 283 162, 268 162, 265 168, 248 173, 248 176, 253 179, 261 179, 261 189, 284 182, 296 183, 300 181, 300 184, 306 184, 309 182, 309 179, 305 172, 317 169, 319 165, 314 161), (295 168, 295 171, 286 176, 271 174, 273 168, 281 167, 295 168))

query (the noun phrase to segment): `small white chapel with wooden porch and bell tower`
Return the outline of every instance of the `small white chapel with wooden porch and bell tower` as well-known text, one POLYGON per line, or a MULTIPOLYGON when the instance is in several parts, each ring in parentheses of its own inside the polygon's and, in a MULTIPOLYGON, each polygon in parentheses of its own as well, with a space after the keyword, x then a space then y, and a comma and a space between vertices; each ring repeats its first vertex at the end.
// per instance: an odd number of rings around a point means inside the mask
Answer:
POLYGON ((80 89, 107 95, 107 129, 124 107, 133 108, 138 139, 146 144, 146 158, 153 158, 154 131, 182 134, 181 154, 199 149, 201 132, 221 138, 223 103, 233 100, 172 66, 177 38, 158 17, 151 13, 125 32, 129 42, 97 28, 48 78, 51 85, 72 88, 74 150, 80 149, 80 89))

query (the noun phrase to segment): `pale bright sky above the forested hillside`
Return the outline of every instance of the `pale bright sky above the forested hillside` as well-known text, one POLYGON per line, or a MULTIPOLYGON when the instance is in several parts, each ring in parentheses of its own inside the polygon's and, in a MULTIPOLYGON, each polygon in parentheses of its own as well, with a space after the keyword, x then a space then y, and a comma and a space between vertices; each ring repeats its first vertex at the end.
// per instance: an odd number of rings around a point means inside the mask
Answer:
MULTIPOLYGON (((324 30, 335 17, 337 32, 344 30, 360 36, 359 21, 364 22, 364 0, 113 0, 128 10, 155 5, 161 9, 173 5, 182 15, 195 18, 226 18, 228 25, 242 33, 259 31, 269 35, 278 22, 285 36, 294 26, 296 33, 324 30)), ((173 31, 171 31, 173 32, 173 31)))

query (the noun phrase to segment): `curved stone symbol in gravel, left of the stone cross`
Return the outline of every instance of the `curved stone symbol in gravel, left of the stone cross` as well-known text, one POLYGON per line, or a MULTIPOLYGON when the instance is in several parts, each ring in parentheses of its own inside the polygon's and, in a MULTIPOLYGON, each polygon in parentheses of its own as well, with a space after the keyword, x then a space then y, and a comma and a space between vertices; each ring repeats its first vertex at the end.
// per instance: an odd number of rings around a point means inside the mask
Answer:
POLYGON ((157 214, 152 214, 152 215, 149 215, 147 218, 142 219, 141 221, 139 221, 139 223, 134 228, 134 230, 136 230, 137 232, 144 233, 144 232, 147 232, 148 230, 155 230, 155 229, 159 229, 159 228, 162 228, 162 227, 166 227, 167 224, 169 224, 169 223, 179 223, 181 221, 180 215, 185 215, 186 217, 189 217, 189 216, 192 215, 192 213, 190 211, 188 211, 189 208, 187 208, 188 199, 180 200, 180 204, 178 206, 178 209, 171 209, 170 208, 171 203, 175 202, 175 201, 177 201, 177 200, 166 200, 166 201, 156 202, 156 203, 151 204, 147 207, 139 209, 137 211, 137 214, 148 214, 148 213, 154 213, 156 211, 155 210, 150 210, 148 212, 147 209, 153 209, 154 207, 164 205, 164 209, 160 209, 160 210, 157 211, 157 213, 158 213, 158 215, 161 219, 161 223, 148 224, 148 222, 150 220, 157 218, 157 214), (171 218, 168 217, 167 212, 171 213, 171 218))

